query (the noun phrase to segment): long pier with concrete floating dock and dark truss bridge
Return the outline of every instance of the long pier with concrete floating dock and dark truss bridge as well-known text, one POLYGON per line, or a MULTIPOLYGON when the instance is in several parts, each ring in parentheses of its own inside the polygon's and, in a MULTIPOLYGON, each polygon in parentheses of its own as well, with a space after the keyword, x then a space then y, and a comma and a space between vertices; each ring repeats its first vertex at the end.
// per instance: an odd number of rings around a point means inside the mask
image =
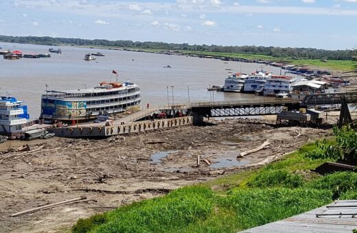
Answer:
POLYGON ((307 108, 307 106, 312 105, 342 103, 343 98, 347 100, 347 103, 352 103, 356 96, 357 92, 333 93, 307 95, 303 101, 269 98, 259 101, 211 101, 158 106, 140 110, 113 121, 87 123, 71 127, 54 127, 50 131, 54 132, 56 136, 69 138, 115 136, 199 124, 203 123, 205 117, 275 115, 283 111, 299 110, 299 108, 307 108), (187 115, 148 120, 155 112, 182 110, 187 112, 187 115))

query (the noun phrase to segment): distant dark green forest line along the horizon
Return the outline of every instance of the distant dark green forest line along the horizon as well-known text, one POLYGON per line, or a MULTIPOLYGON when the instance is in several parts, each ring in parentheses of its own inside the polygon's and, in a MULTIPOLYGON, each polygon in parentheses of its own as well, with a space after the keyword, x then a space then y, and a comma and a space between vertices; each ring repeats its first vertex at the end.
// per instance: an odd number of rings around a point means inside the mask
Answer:
POLYGON ((164 49, 202 51, 216 53, 242 53, 266 55, 277 58, 292 59, 320 59, 320 60, 352 60, 352 50, 325 50, 312 48, 281 48, 263 46, 220 46, 220 45, 189 45, 187 43, 174 44, 165 42, 139 42, 132 40, 84 40, 80 38, 53 38, 49 36, 1 36, 2 42, 36 45, 93 45, 106 47, 121 47, 127 49, 164 49))

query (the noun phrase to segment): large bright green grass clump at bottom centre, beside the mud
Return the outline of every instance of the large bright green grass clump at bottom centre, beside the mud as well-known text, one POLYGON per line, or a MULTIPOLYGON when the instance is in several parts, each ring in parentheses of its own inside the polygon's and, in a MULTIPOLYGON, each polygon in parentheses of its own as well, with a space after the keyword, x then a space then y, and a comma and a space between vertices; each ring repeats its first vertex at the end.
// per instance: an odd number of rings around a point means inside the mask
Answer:
MULTIPOLYGON (((95 228, 90 230, 93 232, 178 231, 189 223, 205 219, 213 210, 212 197, 213 193, 209 188, 201 186, 180 188, 165 197, 142 201, 139 204, 108 212, 108 221, 100 226, 93 225, 95 228)), ((85 228, 86 231, 87 229, 85 228)))

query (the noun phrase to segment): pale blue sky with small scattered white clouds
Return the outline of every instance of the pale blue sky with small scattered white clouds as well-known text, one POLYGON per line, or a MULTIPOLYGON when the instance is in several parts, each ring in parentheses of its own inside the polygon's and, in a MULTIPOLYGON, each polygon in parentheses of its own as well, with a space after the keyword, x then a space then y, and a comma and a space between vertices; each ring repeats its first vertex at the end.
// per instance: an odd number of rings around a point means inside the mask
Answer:
POLYGON ((357 0, 1 0, 0 35, 354 49, 357 0))

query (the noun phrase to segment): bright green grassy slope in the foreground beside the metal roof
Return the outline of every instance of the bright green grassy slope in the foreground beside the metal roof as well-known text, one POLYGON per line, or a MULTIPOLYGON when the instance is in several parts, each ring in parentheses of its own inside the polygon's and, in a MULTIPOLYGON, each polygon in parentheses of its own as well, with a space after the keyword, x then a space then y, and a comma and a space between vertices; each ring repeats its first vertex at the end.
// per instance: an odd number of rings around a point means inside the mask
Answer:
POLYGON ((284 160, 172 191, 90 219, 74 232, 237 232, 332 202, 357 197, 357 174, 312 175, 306 145, 284 160))

